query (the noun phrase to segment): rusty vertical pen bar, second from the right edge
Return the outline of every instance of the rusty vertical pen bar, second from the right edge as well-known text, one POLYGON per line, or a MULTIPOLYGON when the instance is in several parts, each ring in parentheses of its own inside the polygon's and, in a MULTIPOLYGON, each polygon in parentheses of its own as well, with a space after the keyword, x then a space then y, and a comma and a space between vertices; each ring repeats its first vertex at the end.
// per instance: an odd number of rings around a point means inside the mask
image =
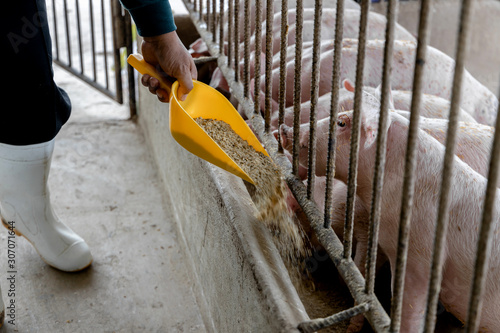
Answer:
POLYGON ((453 161, 455 158, 455 143, 458 127, 458 115, 460 111, 462 78, 468 50, 471 15, 472 0, 463 0, 456 45, 455 74, 453 76, 453 90, 451 93, 448 133, 446 135, 446 152, 443 162, 441 194, 439 197, 436 231, 434 233, 434 250, 432 252, 432 266, 429 292, 427 295, 424 332, 434 332, 434 328, 436 326, 436 308, 438 305, 439 293, 441 290, 443 251, 448 229, 450 190, 453 186, 453 161))

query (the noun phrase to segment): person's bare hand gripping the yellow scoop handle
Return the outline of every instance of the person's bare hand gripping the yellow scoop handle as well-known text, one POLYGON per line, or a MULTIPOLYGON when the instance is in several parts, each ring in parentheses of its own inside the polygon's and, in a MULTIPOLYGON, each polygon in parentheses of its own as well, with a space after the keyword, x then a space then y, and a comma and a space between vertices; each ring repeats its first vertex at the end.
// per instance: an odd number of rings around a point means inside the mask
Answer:
MULTIPOLYGON (((142 55, 144 60, 153 66, 160 65, 165 74, 179 81, 178 96, 183 101, 193 89, 193 81, 198 73, 193 58, 182 45, 175 31, 154 36, 144 37, 142 41, 142 55)), ((159 88, 160 82, 152 76, 144 75, 142 84, 156 94, 161 102, 168 102, 168 93, 159 88)))

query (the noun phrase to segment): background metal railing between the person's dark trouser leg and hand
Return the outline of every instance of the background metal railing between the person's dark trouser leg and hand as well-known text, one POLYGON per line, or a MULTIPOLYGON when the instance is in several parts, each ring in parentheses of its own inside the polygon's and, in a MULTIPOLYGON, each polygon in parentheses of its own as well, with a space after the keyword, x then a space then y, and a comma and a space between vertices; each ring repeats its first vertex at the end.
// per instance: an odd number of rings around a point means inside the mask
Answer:
MULTIPOLYGON (((132 24, 118 0, 52 0, 54 62, 79 79, 122 104, 122 48, 133 52, 132 24), (63 22, 60 22, 60 20, 63 22), (61 39, 63 37, 63 39, 61 39), (85 41, 84 41, 85 39, 85 41), (87 41, 88 39, 88 41, 87 41), (98 42, 100 41, 100 42, 98 42), (90 46, 90 47, 88 47, 90 46), (111 83, 111 81, 114 83, 111 83)), ((135 80, 127 73, 131 116, 136 113, 135 80)))

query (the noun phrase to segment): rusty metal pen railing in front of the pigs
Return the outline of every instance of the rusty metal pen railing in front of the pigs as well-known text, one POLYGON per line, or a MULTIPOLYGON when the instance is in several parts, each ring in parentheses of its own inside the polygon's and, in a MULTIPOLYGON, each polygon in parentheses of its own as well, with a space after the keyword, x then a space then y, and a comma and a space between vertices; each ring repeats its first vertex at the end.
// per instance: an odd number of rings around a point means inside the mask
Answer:
MULTIPOLYGON (((379 243, 379 228, 381 223, 381 206, 384 184, 384 171, 386 164, 387 129, 389 127, 389 103, 390 103, 390 78, 392 72, 392 58, 395 42, 395 27, 397 20, 398 4, 396 0, 389 0, 387 6, 387 25, 385 29, 385 45, 383 50, 383 68, 381 85, 381 106, 378 121, 378 135, 376 138, 375 169, 373 170, 373 185, 371 207, 369 207, 368 226, 368 251, 366 253, 365 277, 355 265, 352 256, 352 239, 354 226, 354 209, 356 199, 358 151, 360 142, 360 121, 363 105, 363 73, 365 62, 365 49, 367 42, 368 13, 370 1, 362 0, 360 8, 358 53, 356 66, 356 85, 354 91, 354 111, 353 126, 350 147, 348 193, 346 204, 346 218, 343 233, 343 241, 335 234, 331 228, 332 201, 333 201, 333 179, 335 176, 336 159, 336 120, 339 113, 339 90, 341 87, 341 63, 342 63, 342 41, 343 41, 343 21, 346 0, 337 0, 335 38, 333 39, 333 59, 331 78, 331 99, 330 99, 330 120, 328 123, 328 150, 326 165, 326 190, 325 209, 320 211, 313 199, 314 178, 316 177, 316 142, 317 138, 317 103, 321 74, 321 18, 323 4, 321 0, 314 1, 314 30, 312 41, 312 68, 311 68, 311 98, 310 98, 310 118, 308 137, 308 185, 304 185, 299 178, 299 134, 300 134, 300 113, 301 113, 301 92, 303 90, 303 68, 302 57, 304 50, 303 28, 304 28, 304 2, 307 0, 293 1, 295 6, 295 64, 293 85, 288 82, 287 73, 290 64, 287 64, 288 45, 288 14, 290 3, 287 0, 272 1, 266 0, 228 0, 226 4, 223 0, 208 0, 206 8, 202 7, 202 2, 197 0, 184 0, 190 12, 191 18, 201 36, 208 46, 210 53, 218 58, 219 69, 225 76, 232 95, 238 100, 240 109, 243 110, 248 119, 251 119, 253 128, 266 146, 270 156, 277 165, 280 166, 285 180, 294 194, 297 202, 301 206, 309 223, 321 245, 334 262, 339 274, 348 286, 356 306, 333 314, 327 318, 312 319, 299 325, 299 329, 304 332, 312 332, 324 327, 331 326, 339 321, 352 318, 359 314, 364 314, 376 332, 399 332, 401 325, 401 314, 403 307, 403 291, 405 288, 405 272, 409 247, 409 231, 412 219, 412 207, 415 191, 415 168, 417 164, 417 147, 419 133, 420 109, 422 106, 423 78, 426 64, 426 55, 429 42, 429 22, 431 12, 431 0, 422 0, 420 21, 418 27, 418 43, 416 47, 416 57, 413 73, 411 114, 406 142, 406 152, 404 161, 404 177, 401 197, 401 211, 399 216, 399 231, 397 240, 397 254, 394 271, 393 297, 391 304, 391 317, 383 309, 380 301, 374 293, 377 246, 379 243), (242 6, 242 10, 240 8, 242 6), (280 11, 276 10, 280 6, 280 11), (209 9, 210 8, 210 9, 209 9), (216 10, 218 13, 216 15, 216 10), (211 12, 210 12, 211 10, 211 12), (272 86, 273 74, 273 17, 274 13, 281 13, 280 22, 280 55, 279 55, 279 85, 272 86), (240 14, 243 13, 243 20, 240 14), (204 15, 206 14, 206 15, 204 15), (226 20, 227 17, 227 20, 226 20), (265 23, 263 23, 265 22, 265 23), (210 23, 210 24, 209 24, 210 23), (226 24, 228 24, 226 29, 226 24), (265 24, 265 64, 261 64, 260 52, 262 50, 262 32, 265 24), (219 29, 217 30, 217 25, 219 29), (240 32, 243 31, 243 37, 240 32), (250 55, 251 42, 254 45, 254 74, 250 75, 250 55), (243 45, 241 45, 241 43, 243 45), (243 47, 241 57, 240 47, 243 47), (241 63, 243 60, 243 63, 241 63), (262 66, 264 65, 264 66, 262 66), (264 105, 260 101, 262 67, 264 67, 264 105), (253 81, 255 98, 250 96, 251 81, 253 81), (272 110, 271 98, 273 89, 278 90, 277 110, 272 110), (283 154, 283 147, 279 140, 281 133, 278 132, 278 141, 271 133, 271 113, 278 112, 278 127, 285 122, 286 91, 293 90, 293 145, 292 160, 283 154), (261 111, 263 110, 263 115, 261 111)), ((309 5, 310 2, 308 2, 309 5)), ((331 3, 330 3, 331 4, 331 3)), ((456 133, 458 124, 458 111, 460 105, 460 92, 462 86, 462 76, 464 71, 464 60, 466 56, 467 44, 470 31, 470 16, 472 1, 462 1, 462 15, 460 27, 458 29, 458 43, 456 52, 455 74, 453 78, 453 92, 451 95, 451 106, 449 116, 448 134, 446 140, 446 153, 443 159, 443 173, 441 178, 441 193, 436 215, 436 234, 432 254, 432 269, 429 277, 429 290, 427 299, 427 311, 424 321, 425 331, 433 331, 436 321, 437 301, 439 297, 440 285, 442 282, 442 251, 444 240, 446 239, 446 226, 449 210, 449 195, 452 186, 454 147, 456 145, 456 133)), ((309 44, 308 46, 309 47, 309 44)), ((321 81, 324 84, 324 80, 321 81)), ((500 128, 500 121, 497 119, 496 128, 500 128)), ((488 262, 488 253, 492 238, 492 223, 494 222, 493 210, 496 195, 496 181, 498 177, 498 156, 500 152, 500 133, 495 131, 492 148, 492 158, 490 164, 489 180, 485 196, 484 211, 480 227, 478 241, 478 251, 476 258, 475 276, 473 288, 471 289, 469 314, 467 318, 468 332, 476 332, 478 328, 478 318, 481 308, 481 293, 484 288, 485 269, 488 262)))

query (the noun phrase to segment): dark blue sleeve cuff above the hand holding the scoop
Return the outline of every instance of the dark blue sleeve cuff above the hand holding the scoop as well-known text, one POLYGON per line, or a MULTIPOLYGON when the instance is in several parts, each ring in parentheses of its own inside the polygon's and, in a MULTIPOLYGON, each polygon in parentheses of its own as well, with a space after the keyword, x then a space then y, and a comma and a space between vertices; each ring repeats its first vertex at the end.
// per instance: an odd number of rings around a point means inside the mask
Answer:
POLYGON ((168 0, 120 0, 130 12, 142 37, 158 36, 177 29, 168 0))

